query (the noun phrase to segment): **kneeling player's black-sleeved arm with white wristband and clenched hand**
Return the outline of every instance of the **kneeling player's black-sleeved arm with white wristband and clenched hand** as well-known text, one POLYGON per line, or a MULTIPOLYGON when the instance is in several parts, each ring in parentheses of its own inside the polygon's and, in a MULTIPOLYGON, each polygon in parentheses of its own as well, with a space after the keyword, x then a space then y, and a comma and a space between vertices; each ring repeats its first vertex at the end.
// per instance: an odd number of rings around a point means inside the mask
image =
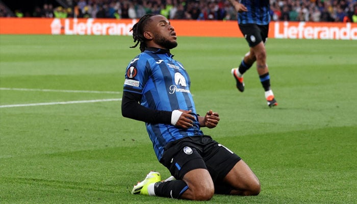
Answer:
POLYGON ((190 114, 191 111, 174 110, 171 112, 149 109, 139 104, 140 99, 141 94, 123 91, 122 116, 147 123, 172 124, 185 129, 192 126, 195 117, 190 114))

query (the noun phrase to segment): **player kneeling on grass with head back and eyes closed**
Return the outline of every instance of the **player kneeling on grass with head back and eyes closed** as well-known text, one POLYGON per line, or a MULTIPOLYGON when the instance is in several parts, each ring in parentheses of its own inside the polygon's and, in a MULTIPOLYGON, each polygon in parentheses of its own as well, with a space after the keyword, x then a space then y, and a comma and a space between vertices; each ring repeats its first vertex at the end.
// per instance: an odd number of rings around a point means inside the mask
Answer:
POLYGON ((141 53, 126 68, 122 115, 146 123, 156 156, 172 175, 162 181, 149 172, 132 193, 191 200, 258 195, 260 182, 248 165, 200 130, 216 127, 219 115, 196 113, 189 75, 170 53, 177 37, 167 18, 144 15, 132 31, 132 47, 140 43, 141 53))

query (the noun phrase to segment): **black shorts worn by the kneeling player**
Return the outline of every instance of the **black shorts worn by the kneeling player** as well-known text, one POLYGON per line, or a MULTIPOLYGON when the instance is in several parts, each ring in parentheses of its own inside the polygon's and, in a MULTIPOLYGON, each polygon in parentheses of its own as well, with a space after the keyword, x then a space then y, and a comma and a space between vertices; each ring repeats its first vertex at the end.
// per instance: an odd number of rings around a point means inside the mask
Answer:
POLYGON ((210 136, 193 136, 166 145, 160 163, 182 180, 193 169, 207 169, 213 182, 220 182, 241 158, 210 136))

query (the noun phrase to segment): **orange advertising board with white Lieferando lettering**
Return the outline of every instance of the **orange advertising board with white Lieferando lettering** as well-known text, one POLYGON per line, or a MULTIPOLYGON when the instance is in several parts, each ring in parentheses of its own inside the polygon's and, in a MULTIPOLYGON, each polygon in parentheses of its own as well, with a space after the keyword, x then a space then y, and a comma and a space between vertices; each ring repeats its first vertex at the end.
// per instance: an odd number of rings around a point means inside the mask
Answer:
MULTIPOLYGON (((137 19, 0 18, 0 34, 132 35, 137 19)), ((179 36, 243 37, 237 21, 170 20, 179 36)), ((269 38, 357 40, 357 23, 272 21, 269 38)))

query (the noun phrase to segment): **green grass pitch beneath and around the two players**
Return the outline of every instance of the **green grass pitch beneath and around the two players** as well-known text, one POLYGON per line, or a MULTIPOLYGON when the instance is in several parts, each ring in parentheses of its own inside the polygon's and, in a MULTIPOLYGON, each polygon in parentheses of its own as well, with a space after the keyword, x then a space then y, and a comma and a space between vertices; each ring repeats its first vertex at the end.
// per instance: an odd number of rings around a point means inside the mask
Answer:
MULTIPOLYGON (((138 48, 128 36, 0 35, 0 106, 121 98, 4 88, 122 92, 138 48)), ((267 43, 278 106, 268 108, 257 71, 238 92, 230 74, 247 52, 240 38, 179 37, 172 50, 191 77, 197 111, 220 113, 203 131, 237 152, 262 183, 259 196, 205 203, 355 203, 357 43, 267 43)), ((157 160, 144 123, 120 101, 0 108, 0 203, 196 203, 132 195, 157 160)))

